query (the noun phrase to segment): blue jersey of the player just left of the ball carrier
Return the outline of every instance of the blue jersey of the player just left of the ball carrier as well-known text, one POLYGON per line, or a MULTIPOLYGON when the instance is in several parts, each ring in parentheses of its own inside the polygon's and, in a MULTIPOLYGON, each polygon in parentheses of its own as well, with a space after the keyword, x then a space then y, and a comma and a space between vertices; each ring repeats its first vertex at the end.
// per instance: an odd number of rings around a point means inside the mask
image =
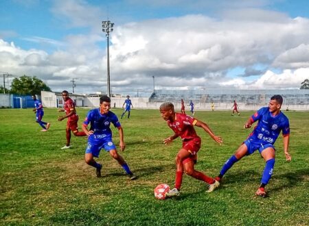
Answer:
POLYGON ((89 136, 89 140, 96 140, 101 138, 111 138, 112 131, 110 128, 111 123, 115 127, 120 127, 119 120, 113 112, 102 114, 99 108, 90 110, 84 120, 84 125, 89 125, 93 134, 89 136))

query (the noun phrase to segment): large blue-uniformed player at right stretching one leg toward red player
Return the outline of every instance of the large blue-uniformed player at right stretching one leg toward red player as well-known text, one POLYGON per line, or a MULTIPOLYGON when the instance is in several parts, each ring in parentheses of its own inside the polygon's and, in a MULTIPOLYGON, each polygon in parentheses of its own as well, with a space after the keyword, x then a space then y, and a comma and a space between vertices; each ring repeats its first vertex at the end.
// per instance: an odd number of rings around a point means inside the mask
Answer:
POLYGON ((236 153, 225 162, 220 174, 215 178, 217 181, 220 181, 223 175, 225 175, 229 168, 238 162, 238 160, 245 155, 251 155, 254 151, 259 150, 262 158, 264 158, 266 162, 266 166, 262 174, 260 188, 255 192, 255 195, 266 197, 265 186, 271 179, 273 167, 275 165, 275 147, 273 145, 277 140, 280 131, 282 131, 286 160, 290 161, 292 159, 290 153, 288 153, 290 125, 288 118, 280 110, 282 103, 282 96, 274 95, 271 97, 268 107, 261 108, 248 119, 247 123, 244 124, 244 128, 250 128, 256 121, 258 121, 258 125, 254 127, 247 140, 240 145, 236 153))

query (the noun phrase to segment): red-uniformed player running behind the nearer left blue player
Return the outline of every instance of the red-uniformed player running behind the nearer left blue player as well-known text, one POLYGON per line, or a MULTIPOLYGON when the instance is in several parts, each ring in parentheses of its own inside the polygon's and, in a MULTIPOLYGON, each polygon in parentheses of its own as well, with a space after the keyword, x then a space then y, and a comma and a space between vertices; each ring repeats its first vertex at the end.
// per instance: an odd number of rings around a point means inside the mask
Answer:
POLYGON ((78 115, 76 114, 75 103, 69 97, 69 92, 67 90, 63 90, 61 92, 62 98, 65 101, 65 105, 63 106, 64 109, 59 109, 58 112, 65 112, 65 116, 58 117, 58 121, 62 121, 63 119, 67 118, 67 127, 66 131, 66 138, 67 144, 62 147, 61 149, 69 149, 70 148, 70 141, 71 141, 71 131, 75 136, 86 136, 84 131, 78 131, 78 115))

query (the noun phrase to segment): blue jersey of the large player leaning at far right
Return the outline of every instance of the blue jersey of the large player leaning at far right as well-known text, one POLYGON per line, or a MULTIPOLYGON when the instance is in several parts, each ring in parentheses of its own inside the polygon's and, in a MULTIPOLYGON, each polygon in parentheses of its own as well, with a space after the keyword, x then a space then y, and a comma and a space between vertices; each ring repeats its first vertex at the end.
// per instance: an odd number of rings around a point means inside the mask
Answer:
POLYGON ((283 136, 290 134, 288 118, 282 112, 273 116, 268 107, 261 108, 251 116, 251 122, 255 121, 258 121, 258 125, 255 126, 248 140, 273 145, 280 131, 283 136))

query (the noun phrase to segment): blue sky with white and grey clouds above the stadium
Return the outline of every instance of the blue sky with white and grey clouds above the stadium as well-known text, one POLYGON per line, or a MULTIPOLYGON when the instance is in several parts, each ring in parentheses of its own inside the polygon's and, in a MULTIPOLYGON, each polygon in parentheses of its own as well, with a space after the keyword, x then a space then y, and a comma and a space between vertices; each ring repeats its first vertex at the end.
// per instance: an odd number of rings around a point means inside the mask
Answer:
POLYGON ((55 92, 299 89, 309 79, 307 0, 2 0, 0 86, 55 92))

